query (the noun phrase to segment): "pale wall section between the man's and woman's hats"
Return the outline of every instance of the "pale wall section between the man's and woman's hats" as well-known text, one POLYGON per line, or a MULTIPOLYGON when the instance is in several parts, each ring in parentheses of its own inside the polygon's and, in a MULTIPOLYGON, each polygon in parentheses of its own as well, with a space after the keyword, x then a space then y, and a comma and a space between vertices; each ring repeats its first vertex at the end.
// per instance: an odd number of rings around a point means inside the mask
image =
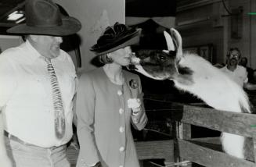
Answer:
MULTIPOLYGON (((81 37, 82 70, 94 69, 95 66, 92 66, 90 61, 95 55, 89 51, 89 48, 96 44, 96 39, 102 33, 102 30, 99 30, 100 27, 97 29, 97 22, 99 22, 105 10, 110 25, 117 21, 124 23, 125 0, 55 0, 55 2, 62 5, 70 16, 74 16, 81 21, 82 28, 78 35, 81 37)), ((99 22, 98 25, 103 22, 99 22)))

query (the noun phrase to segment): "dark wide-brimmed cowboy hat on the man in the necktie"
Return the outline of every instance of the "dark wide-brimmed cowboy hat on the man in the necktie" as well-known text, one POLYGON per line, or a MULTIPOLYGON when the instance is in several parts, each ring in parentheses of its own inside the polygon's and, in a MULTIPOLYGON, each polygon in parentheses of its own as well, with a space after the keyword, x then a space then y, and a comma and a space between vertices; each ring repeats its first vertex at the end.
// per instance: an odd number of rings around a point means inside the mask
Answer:
POLYGON ((27 0, 25 5, 26 23, 9 28, 13 34, 41 34, 66 36, 81 29, 79 20, 63 16, 52 0, 27 0))

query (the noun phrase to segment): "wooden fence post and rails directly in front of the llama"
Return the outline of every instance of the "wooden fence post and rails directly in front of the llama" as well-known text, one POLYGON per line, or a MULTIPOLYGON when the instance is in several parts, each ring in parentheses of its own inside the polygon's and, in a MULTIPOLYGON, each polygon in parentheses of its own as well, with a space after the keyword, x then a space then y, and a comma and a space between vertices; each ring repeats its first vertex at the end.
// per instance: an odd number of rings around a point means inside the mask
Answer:
MULTIPOLYGON (((175 119, 175 159, 181 161, 186 159, 197 164, 212 167, 249 167, 256 166, 256 115, 236 112, 218 111, 212 108, 201 108, 190 105, 179 105, 180 109, 171 111, 173 119, 175 119), (227 155, 222 151, 216 151, 209 147, 203 147, 197 141, 202 142, 202 139, 186 140, 182 137, 182 124, 190 124, 202 126, 211 130, 218 130, 226 133, 235 133, 243 137, 249 137, 247 140, 253 148, 251 161, 235 158, 227 155)), ((176 106, 178 108, 178 104, 176 106)), ((186 130, 182 130, 184 132, 186 130)), ((207 138, 209 140, 209 138, 207 138)))

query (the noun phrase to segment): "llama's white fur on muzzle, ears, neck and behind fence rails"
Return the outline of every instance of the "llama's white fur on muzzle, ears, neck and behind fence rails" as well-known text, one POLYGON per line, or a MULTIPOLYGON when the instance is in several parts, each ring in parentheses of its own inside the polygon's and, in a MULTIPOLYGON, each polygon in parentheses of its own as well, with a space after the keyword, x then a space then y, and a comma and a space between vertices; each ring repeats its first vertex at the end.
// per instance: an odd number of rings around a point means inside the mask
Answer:
MULTIPOLYGON (((176 49, 178 66, 187 67, 193 71, 191 76, 179 73, 173 76, 171 80, 174 81, 175 87, 194 94, 217 110, 243 112, 242 109, 244 109, 244 111, 250 112, 247 94, 244 93, 242 87, 202 57, 190 53, 183 54, 182 37, 175 29, 171 29, 171 34, 175 38, 175 44, 178 47, 176 49)), ((164 36, 168 44, 168 51, 173 51, 175 47, 172 46, 173 42, 170 34, 164 32, 164 36)), ((139 63, 135 67, 139 73, 155 80, 161 80, 161 78, 147 73, 139 63)), ((226 153, 237 158, 244 158, 244 137, 232 133, 222 133, 221 140, 223 150, 226 153)))

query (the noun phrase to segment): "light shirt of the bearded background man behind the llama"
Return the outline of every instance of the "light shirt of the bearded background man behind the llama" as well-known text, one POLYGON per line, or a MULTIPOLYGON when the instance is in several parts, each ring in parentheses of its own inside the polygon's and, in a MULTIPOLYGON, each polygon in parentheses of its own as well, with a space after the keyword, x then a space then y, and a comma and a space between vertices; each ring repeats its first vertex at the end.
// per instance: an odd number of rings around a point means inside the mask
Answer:
POLYGON ((236 66, 234 71, 231 71, 227 68, 227 66, 224 66, 221 68, 221 70, 241 87, 243 87, 243 84, 248 82, 247 70, 243 66, 236 66))

